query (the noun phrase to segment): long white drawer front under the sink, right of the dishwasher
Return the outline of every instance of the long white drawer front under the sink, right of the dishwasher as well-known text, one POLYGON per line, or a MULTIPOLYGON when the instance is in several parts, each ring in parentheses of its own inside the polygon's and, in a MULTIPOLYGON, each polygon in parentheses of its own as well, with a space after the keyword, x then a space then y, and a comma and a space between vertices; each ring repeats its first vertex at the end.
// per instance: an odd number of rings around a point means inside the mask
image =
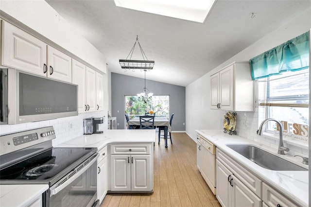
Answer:
POLYGON ((221 161, 242 183, 261 198, 261 180, 228 155, 216 148, 216 158, 221 161))

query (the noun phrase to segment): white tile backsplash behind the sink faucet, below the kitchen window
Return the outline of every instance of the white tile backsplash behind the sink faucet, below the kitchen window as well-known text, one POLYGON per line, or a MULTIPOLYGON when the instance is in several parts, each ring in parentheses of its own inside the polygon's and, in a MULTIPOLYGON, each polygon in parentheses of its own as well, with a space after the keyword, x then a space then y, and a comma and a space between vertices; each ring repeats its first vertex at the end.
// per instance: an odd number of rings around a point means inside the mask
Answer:
MULTIPOLYGON (((258 107, 256 107, 255 112, 236 113, 237 135, 277 150, 279 140, 278 137, 267 134, 264 134, 263 136, 257 135, 259 124, 264 120, 263 113, 261 113, 258 107)), ((284 146, 290 149, 290 151, 287 152, 288 154, 309 157, 309 146, 307 143, 288 138, 283 138, 283 142, 284 146)))

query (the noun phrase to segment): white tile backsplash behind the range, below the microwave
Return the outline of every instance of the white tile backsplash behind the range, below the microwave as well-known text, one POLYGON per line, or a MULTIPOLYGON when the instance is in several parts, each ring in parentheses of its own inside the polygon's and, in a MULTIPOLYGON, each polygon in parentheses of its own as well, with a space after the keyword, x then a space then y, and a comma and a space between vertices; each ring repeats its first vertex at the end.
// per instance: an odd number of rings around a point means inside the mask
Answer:
MULTIPOLYGON (((90 112, 79 114, 74 117, 65 117, 47 121, 36 121, 29 123, 13 124, 13 125, 0 125, 0 135, 8 134, 18 131, 25 131, 46 126, 53 126, 56 138, 52 140, 53 146, 61 144, 72 138, 83 135, 83 119, 89 117, 104 117, 104 111, 90 112)), ((107 125, 107 118, 104 117, 104 124, 107 125)), ((104 127, 106 129, 107 127, 104 127)))

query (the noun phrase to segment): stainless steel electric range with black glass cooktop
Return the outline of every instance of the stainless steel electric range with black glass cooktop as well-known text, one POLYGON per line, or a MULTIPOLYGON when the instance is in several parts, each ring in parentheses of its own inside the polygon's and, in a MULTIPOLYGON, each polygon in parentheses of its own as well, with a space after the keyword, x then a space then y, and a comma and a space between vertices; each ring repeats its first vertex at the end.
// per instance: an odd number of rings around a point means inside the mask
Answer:
POLYGON ((55 148, 52 126, 0 136, 0 184, 48 184, 43 207, 97 207, 96 148, 55 148))

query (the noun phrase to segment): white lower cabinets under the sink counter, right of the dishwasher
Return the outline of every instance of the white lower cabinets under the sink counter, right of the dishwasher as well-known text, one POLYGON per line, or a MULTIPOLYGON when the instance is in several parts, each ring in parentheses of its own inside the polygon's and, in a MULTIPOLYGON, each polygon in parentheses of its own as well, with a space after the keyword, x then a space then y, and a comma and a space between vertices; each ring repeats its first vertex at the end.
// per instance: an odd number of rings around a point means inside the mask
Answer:
POLYGON ((299 207, 216 148, 216 198, 222 207, 299 207))

